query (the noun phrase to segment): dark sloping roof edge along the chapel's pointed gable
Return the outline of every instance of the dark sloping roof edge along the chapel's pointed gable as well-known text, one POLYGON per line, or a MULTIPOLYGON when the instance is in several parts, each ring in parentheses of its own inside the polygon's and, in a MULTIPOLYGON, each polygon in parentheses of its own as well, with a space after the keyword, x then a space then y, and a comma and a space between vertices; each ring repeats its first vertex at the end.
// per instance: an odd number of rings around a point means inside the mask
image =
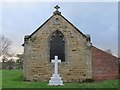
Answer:
MULTIPOLYGON (((55 12, 54 12, 55 13, 55 12)), ((83 34, 78 28, 76 28, 71 22, 69 22, 64 16, 61 15, 61 13, 56 13, 58 15, 60 15, 63 19, 65 19, 70 25, 72 25, 80 34, 82 34, 83 36, 85 36, 87 38, 87 36, 85 34, 83 34)), ((33 34, 35 34, 42 26, 44 26, 54 15, 56 14, 53 14, 49 19, 47 19, 39 28, 37 28, 31 35, 29 35, 27 38, 31 38, 31 36, 33 34)))

